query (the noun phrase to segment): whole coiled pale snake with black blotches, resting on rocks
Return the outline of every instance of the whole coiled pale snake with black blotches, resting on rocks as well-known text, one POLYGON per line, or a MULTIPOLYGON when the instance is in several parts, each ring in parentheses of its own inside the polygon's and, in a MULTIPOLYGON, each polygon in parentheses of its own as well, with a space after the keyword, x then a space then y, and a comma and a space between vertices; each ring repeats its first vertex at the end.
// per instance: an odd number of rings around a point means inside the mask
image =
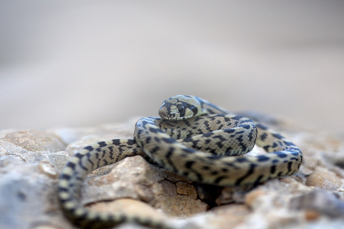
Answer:
POLYGON ((137 121, 133 139, 114 139, 86 146, 67 162, 58 181, 64 215, 81 228, 110 228, 134 222, 152 228, 168 223, 125 212, 93 212, 79 203, 89 172, 126 157, 141 155, 192 181, 216 186, 257 186, 295 174, 301 150, 264 124, 238 116, 202 98, 178 95, 163 101, 160 117, 137 121), (254 145, 266 153, 243 156, 254 145))

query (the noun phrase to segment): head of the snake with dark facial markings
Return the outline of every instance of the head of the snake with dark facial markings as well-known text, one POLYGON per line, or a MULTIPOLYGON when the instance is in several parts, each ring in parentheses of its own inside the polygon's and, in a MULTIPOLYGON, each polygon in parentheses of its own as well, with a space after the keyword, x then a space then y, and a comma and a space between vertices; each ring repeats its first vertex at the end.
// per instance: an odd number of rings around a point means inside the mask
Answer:
POLYGON ((159 116, 168 120, 184 120, 204 113, 201 101, 196 96, 189 95, 168 98, 159 109, 159 116))

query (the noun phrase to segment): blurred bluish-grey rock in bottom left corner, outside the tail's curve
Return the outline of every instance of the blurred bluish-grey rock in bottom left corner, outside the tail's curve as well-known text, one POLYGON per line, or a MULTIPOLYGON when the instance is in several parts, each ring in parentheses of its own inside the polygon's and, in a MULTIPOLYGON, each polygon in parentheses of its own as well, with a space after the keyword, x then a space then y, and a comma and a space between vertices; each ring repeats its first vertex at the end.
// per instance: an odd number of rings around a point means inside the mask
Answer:
POLYGON ((58 170, 49 162, 3 157, 9 163, 0 167, 0 228, 71 228, 58 208, 58 170))

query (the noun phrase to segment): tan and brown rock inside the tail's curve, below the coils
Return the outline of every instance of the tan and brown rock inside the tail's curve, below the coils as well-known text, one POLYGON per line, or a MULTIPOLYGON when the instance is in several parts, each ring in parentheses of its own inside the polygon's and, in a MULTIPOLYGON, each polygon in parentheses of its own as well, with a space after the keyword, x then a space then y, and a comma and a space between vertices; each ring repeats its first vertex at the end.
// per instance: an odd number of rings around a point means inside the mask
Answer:
MULTIPOLYGON (((180 183, 180 182, 178 182, 180 183)), ((186 182, 184 182, 186 183, 186 182)), ((88 177, 83 189, 83 204, 131 198, 145 201, 168 215, 186 217, 205 212, 208 206, 193 196, 177 192, 174 182, 166 179, 164 170, 149 164, 141 156, 127 157, 103 176, 88 177)), ((188 183, 184 184, 184 186, 188 183)), ((179 185, 180 186, 180 185, 179 185)), ((191 187, 180 188, 190 190, 191 187)), ((142 212, 144 209, 142 209, 142 212)))

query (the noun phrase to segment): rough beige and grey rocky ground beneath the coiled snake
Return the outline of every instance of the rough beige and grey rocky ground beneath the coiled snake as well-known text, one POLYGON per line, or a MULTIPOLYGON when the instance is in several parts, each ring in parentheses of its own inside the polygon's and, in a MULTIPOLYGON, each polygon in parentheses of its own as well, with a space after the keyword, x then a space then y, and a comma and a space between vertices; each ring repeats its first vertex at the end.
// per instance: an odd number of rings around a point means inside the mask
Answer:
MULTIPOLYGON (((121 209, 185 229, 343 227, 344 139, 252 112, 246 115, 301 148, 304 162, 295 175, 250 189, 222 188, 196 184, 134 156, 90 173, 81 203, 93 211, 121 209)), ((0 131, 0 228, 75 228, 57 200, 62 168, 89 144, 132 138, 135 121, 0 131)), ((255 147, 252 153, 263 151, 255 147)), ((116 228, 144 227, 125 223, 116 228)))

